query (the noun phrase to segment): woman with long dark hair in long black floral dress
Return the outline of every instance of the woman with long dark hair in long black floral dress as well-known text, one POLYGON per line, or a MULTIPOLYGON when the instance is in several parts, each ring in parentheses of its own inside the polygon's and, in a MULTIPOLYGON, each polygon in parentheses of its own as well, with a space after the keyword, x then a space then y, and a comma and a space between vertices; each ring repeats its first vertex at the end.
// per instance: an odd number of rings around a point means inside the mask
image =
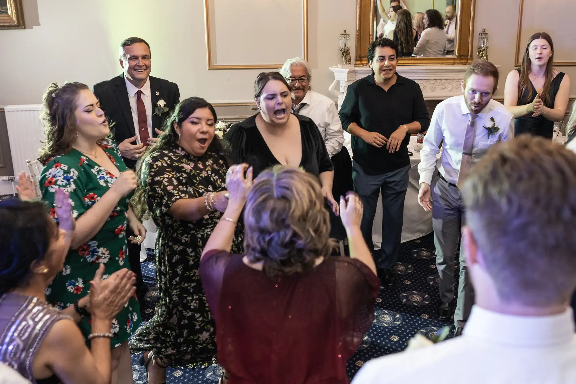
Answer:
MULTIPOLYGON (((206 100, 182 101, 138 164, 132 203, 147 206, 157 226, 158 302, 130 348, 146 352, 141 363, 149 371, 149 384, 165 381, 166 366, 215 363, 214 320, 198 268, 204 245, 228 206, 228 161, 214 137, 216 119, 206 100)), ((241 250, 240 234, 233 240, 235 250, 241 250)))

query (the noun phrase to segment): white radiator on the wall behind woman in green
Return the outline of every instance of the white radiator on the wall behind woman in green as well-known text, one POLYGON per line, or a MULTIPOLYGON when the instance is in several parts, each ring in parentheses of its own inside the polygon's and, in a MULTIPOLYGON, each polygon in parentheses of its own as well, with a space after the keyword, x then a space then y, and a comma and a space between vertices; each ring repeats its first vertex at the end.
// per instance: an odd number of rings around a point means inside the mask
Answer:
POLYGON ((15 176, 21 171, 29 173, 26 160, 36 160, 40 148, 44 146, 41 143, 44 141, 41 110, 40 104, 4 108, 15 176))

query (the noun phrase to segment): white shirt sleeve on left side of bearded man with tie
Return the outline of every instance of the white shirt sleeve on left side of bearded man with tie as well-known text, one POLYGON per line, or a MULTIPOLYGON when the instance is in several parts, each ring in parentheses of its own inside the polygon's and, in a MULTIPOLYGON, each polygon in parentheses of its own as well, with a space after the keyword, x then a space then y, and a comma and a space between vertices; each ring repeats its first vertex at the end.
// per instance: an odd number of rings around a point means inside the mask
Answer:
POLYGON ((424 143, 422 144, 422 150, 420 150, 420 164, 418 164, 418 172, 420 173, 419 184, 426 183, 430 185, 432 183, 432 175, 434 174, 434 168, 436 167, 438 153, 440 149, 438 148, 444 134, 442 133, 442 126, 440 121, 444 115, 444 108, 436 107, 432 118, 430 119, 430 126, 426 136, 424 137, 424 143))

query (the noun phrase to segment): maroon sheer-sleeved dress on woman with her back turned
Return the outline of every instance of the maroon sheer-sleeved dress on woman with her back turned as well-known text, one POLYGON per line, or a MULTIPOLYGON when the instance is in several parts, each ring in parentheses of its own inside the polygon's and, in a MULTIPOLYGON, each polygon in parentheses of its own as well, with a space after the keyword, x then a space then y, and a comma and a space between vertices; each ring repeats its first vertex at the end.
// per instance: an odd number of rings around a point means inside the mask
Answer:
POLYGON ((346 362, 374 320, 380 283, 361 261, 328 257, 270 279, 242 255, 212 251, 199 269, 229 384, 348 383, 346 362))

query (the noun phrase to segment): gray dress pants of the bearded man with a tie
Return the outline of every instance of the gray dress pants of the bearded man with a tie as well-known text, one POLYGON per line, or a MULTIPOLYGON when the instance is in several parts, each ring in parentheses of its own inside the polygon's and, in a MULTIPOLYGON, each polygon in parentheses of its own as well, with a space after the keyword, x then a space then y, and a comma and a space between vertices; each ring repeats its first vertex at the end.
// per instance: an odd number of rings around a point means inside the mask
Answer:
MULTIPOLYGON (((460 190, 438 175, 432 185, 432 227, 436 247, 436 268, 440 276, 440 299, 449 303, 454 298, 454 258, 464 225, 464 202, 460 190)), ((454 324, 463 327, 474 303, 474 289, 468 275, 464 247, 460 246, 460 281, 454 324)))

